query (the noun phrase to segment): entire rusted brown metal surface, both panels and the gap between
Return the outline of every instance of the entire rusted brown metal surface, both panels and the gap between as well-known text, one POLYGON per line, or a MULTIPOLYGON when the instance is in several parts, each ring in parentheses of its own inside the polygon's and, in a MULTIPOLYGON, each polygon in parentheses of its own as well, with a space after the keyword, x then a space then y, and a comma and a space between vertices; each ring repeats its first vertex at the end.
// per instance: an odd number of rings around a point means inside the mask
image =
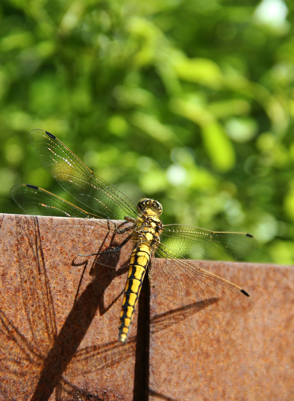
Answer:
POLYGON ((18 215, 0 223, 0 400, 291 399, 293 268, 198 262, 249 292, 245 315, 179 308, 152 288, 149 309, 145 280, 122 345, 131 244, 76 256, 120 243, 114 225, 18 215))

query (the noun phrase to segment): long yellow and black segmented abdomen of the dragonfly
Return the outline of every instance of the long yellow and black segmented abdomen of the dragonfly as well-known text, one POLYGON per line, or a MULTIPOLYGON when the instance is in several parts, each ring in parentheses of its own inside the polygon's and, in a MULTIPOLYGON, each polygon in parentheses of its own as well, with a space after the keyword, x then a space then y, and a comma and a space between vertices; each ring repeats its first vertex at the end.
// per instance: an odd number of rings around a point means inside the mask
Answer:
POLYGON ((150 245, 146 244, 136 246, 132 252, 128 279, 124 290, 124 299, 122 301, 122 310, 120 312, 120 325, 118 328, 120 342, 126 342, 128 339, 130 325, 133 321, 142 282, 150 260, 150 252, 150 245))

